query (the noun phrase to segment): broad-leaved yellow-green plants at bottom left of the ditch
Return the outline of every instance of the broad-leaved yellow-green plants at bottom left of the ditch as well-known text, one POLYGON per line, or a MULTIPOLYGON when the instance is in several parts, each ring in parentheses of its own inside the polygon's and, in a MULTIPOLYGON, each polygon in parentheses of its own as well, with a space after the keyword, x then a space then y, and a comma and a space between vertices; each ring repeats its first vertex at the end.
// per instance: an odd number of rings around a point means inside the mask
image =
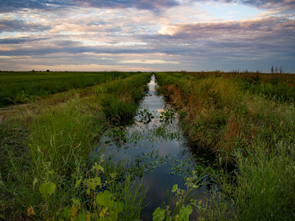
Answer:
MULTIPOLYGON (((104 168, 100 165, 102 162, 103 159, 101 157, 100 163, 95 163, 94 166, 92 166, 92 169, 90 169, 89 175, 90 173, 93 173, 93 177, 85 179, 83 182, 82 178, 76 181, 75 189, 78 188, 81 182, 84 184, 84 187, 87 188, 87 199, 81 201, 80 198, 73 198, 71 200, 72 205, 64 207, 62 213, 62 209, 54 212, 51 211, 51 207, 49 206, 52 195, 55 195, 56 193, 56 184, 53 182, 42 183, 39 186, 39 192, 43 196, 45 203, 41 206, 43 212, 40 213, 40 217, 44 220, 116 221, 118 219, 118 214, 122 212, 124 208, 124 204, 121 201, 121 198, 113 193, 114 190, 112 190, 112 185, 110 185, 110 183, 114 182, 116 173, 109 174, 111 178, 110 181, 101 183, 100 176, 102 173, 105 173, 104 168), (110 191, 104 190, 105 188, 110 188, 110 191)), ((54 202, 54 200, 52 202, 54 202)), ((31 205, 28 207, 28 215, 36 215, 31 205)))

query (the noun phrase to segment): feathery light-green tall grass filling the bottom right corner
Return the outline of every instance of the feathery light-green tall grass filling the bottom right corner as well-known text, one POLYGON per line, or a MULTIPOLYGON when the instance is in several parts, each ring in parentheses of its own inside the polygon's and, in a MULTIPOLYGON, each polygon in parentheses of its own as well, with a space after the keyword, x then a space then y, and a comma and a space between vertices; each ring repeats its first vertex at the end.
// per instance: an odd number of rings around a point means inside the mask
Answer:
MULTIPOLYGON (((235 150, 237 186, 231 197, 241 220, 293 220, 295 218, 295 151, 290 141, 274 143, 268 151, 258 142, 242 156, 235 150), (251 152, 250 152, 251 151, 251 152)), ((227 186, 227 185, 226 185, 227 186)))

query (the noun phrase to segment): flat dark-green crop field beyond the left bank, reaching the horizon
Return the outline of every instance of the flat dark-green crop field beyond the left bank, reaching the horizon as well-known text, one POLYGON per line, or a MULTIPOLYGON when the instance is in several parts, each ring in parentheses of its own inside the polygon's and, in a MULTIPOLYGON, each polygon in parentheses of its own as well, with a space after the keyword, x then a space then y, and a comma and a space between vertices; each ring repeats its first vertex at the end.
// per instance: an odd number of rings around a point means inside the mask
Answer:
POLYGON ((123 79, 131 72, 0 72, 0 107, 20 99, 123 79))

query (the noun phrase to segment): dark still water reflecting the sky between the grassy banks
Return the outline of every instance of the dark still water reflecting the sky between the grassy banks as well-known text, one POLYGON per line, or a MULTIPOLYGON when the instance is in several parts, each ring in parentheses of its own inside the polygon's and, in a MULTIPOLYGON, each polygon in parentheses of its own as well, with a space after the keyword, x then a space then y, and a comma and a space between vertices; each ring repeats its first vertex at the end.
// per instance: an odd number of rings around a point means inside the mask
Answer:
MULTIPOLYGON (((166 191, 171 191, 175 184, 185 190, 183 177, 197 165, 204 164, 204 154, 193 153, 192 147, 187 145, 178 125, 177 112, 165 103, 163 96, 156 94, 154 76, 148 86, 149 91, 141 104, 142 112, 139 111, 134 123, 126 127, 128 140, 112 144, 105 137, 101 144, 115 161, 144 165, 143 186, 148 188, 145 200, 150 203, 142 210, 142 214, 146 214, 142 220, 152 220, 154 210, 168 200, 166 191)), ((205 193, 198 200, 206 201, 206 186, 197 189, 197 193, 205 193)), ((197 214, 192 214, 190 219, 197 219, 197 214)))

